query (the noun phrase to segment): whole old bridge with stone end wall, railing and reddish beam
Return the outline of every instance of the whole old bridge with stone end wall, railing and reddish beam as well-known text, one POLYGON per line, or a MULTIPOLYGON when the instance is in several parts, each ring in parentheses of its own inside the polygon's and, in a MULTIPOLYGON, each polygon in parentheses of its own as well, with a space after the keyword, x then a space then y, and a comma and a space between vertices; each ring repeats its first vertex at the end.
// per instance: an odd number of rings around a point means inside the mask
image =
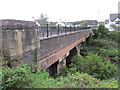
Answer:
POLYGON ((13 62, 22 61, 34 65, 33 57, 37 45, 38 68, 48 71, 64 68, 69 63, 67 58, 72 50, 80 54, 81 43, 91 32, 90 27, 53 27, 48 24, 38 27, 35 22, 20 20, 0 22, 2 55, 10 57, 13 62))

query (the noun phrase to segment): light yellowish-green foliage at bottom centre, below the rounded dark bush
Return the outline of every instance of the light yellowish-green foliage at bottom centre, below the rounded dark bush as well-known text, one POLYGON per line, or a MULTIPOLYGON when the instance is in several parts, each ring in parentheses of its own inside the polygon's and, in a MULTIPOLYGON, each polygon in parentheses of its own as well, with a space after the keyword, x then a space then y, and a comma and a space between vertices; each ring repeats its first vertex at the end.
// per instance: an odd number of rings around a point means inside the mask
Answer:
POLYGON ((61 84, 59 86, 64 88, 89 88, 100 82, 88 74, 79 72, 68 74, 67 77, 59 77, 56 80, 61 84))

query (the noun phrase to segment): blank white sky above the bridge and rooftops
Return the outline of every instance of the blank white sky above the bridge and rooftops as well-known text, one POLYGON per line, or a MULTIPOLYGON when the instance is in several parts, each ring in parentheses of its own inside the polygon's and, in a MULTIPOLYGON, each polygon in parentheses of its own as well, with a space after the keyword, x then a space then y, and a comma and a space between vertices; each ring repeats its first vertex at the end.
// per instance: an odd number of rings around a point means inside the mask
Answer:
POLYGON ((49 21, 109 18, 118 12, 120 0, 0 0, 0 19, 33 20, 45 13, 49 21))

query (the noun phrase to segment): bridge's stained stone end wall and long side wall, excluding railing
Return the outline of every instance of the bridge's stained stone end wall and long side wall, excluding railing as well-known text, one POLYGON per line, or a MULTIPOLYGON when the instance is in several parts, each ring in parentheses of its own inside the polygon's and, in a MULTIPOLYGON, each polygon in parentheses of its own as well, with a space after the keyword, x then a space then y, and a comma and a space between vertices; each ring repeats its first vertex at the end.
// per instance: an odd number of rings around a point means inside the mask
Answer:
MULTIPOLYGON (((17 23, 18 24, 18 23, 17 23)), ((21 24, 18 24, 18 26, 21 24)), ((33 24, 32 24, 33 25, 33 24)), ((46 69, 56 61, 62 62, 69 51, 89 36, 90 30, 81 30, 74 33, 40 39, 39 29, 31 27, 16 28, 2 26, 0 30, 0 51, 11 60, 33 64, 35 41, 38 34, 38 67, 46 69)))

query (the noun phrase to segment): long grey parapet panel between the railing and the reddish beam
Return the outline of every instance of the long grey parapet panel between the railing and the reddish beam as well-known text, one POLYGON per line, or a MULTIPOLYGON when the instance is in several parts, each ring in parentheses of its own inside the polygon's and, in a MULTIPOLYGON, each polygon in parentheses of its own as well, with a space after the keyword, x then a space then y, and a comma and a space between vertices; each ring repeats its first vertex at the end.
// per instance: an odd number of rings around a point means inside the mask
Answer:
POLYGON ((70 34, 59 35, 55 37, 45 38, 40 40, 40 58, 50 55, 51 53, 79 40, 82 37, 87 37, 90 30, 83 30, 70 34))

